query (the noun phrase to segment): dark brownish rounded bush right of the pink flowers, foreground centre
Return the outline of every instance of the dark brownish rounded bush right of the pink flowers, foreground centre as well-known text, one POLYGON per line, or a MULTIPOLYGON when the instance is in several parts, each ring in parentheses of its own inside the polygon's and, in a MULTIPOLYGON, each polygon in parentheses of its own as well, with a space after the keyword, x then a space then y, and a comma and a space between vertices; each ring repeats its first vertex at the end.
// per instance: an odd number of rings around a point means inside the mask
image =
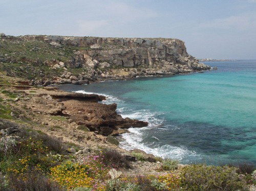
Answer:
POLYGON ((104 156, 103 162, 106 165, 110 165, 114 168, 119 168, 119 167, 131 168, 130 162, 126 160, 125 156, 121 155, 116 150, 105 149, 102 151, 102 155, 104 156))

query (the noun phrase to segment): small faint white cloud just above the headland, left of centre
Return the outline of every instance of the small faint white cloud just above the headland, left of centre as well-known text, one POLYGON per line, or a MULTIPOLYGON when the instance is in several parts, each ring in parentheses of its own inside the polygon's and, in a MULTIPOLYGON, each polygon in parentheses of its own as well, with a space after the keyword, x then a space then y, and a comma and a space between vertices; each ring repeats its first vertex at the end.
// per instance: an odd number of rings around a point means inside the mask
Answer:
POLYGON ((108 26, 107 20, 77 20, 78 30, 90 34, 102 27, 108 26))

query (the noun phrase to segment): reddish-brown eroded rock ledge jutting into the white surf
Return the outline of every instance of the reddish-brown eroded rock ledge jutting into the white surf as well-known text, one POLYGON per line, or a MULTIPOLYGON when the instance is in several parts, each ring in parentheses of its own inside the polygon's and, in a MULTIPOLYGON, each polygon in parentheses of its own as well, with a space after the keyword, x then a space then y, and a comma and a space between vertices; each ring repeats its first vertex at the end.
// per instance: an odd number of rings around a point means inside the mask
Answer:
POLYGON ((122 118, 116 113, 116 104, 98 103, 104 99, 97 94, 44 91, 28 99, 26 107, 38 114, 65 116, 70 123, 84 125, 102 135, 117 135, 127 132, 130 127, 148 125, 147 122, 122 118))

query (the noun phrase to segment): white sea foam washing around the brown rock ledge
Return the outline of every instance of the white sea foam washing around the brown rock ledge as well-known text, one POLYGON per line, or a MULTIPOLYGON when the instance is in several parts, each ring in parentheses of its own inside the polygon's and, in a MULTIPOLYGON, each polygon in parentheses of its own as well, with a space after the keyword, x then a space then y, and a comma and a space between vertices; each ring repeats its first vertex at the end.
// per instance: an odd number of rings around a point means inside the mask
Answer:
MULTIPOLYGON (((78 90, 75 91, 78 93, 88 93, 93 94, 95 92, 87 92, 84 90, 78 90)), ((125 102, 123 100, 120 100, 117 97, 114 97, 112 95, 106 95, 103 93, 96 93, 101 96, 105 96, 106 100, 102 101, 105 104, 111 104, 111 103, 117 103, 120 108, 116 110, 118 114, 120 114, 123 118, 129 117, 132 119, 137 119, 141 121, 148 122, 147 127, 143 128, 130 128, 130 133, 125 133, 121 135, 120 138, 120 147, 126 150, 132 150, 132 149, 141 149, 145 151, 146 153, 154 154, 155 156, 160 156, 163 158, 173 158, 182 160, 184 157, 194 156, 199 157, 195 152, 191 152, 186 148, 182 147, 174 147, 170 145, 164 145, 164 146, 157 146, 155 143, 160 142, 159 138, 156 136, 152 136, 155 141, 152 142, 143 142, 145 138, 145 131, 153 128, 157 128, 159 131, 166 131, 168 128, 171 129, 178 129, 177 126, 167 127, 162 126, 163 119, 156 117, 161 116, 161 113, 154 113, 150 110, 141 109, 141 110, 134 110, 133 108, 125 105, 125 102)))

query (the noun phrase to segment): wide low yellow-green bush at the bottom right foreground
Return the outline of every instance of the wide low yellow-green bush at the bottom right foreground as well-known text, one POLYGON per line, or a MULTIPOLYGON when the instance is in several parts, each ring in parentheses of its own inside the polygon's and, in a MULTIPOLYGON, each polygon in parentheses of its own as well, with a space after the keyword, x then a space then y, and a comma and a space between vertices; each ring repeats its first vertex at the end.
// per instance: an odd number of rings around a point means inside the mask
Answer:
POLYGON ((193 164, 181 170, 181 185, 185 190, 243 190, 245 184, 236 171, 229 166, 193 164))

